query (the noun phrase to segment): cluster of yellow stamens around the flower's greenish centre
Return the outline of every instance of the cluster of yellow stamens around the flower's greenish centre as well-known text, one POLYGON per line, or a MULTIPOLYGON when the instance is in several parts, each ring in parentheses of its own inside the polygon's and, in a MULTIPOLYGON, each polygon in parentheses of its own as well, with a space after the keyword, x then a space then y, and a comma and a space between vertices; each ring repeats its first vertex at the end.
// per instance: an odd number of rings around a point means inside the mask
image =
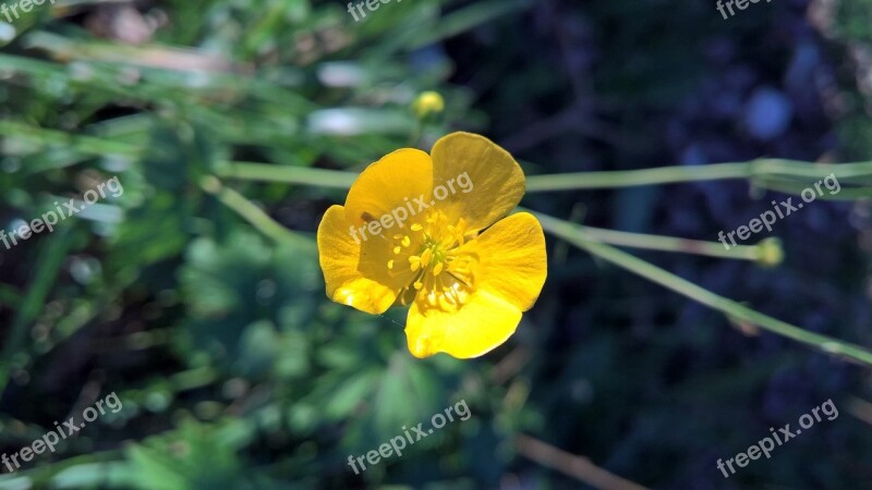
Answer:
POLYGON ((477 261, 460 250, 469 238, 465 221, 461 218, 457 224, 448 224, 445 213, 434 210, 410 230, 410 234, 393 235, 393 258, 387 264, 389 270, 407 270, 413 278, 401 297, 414 296, 427 308, 456 310, 475 290, 477 261))

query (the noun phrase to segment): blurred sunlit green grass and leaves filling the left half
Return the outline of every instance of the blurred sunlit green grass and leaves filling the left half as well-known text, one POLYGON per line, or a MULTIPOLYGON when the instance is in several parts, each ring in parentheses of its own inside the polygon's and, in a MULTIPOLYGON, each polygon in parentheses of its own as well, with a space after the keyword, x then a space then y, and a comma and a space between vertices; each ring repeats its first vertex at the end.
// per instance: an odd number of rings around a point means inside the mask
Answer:
MULTIPOLYGON (((354 24, 335 2, 174 1, 142 15, 80 1, 12 26, 0 53, 2 222, 113 175, 124 194, 101 205, 124 219, 70 220, 2 252, 5 400, 46 402, 36 413, 4 406, 0 446, 29 443, 38 429, 21 419, 77 406, 70 395, 88 380, 71 346, 96 356, 101 379, 89 382, 117 391, 124 411, 0 488, 340 488, 353 475, 348 454, 448 401, 494 408, 463 385, 485 366, 413 363, 401 328, 325 298, 314 247, 259 235, 199 185, 233 159, 360 169, 408 144, 409 105, 426 89, 450 103, 425 138, 481 124, 469 91, 447 83, 450 60, 427 46, 524 4, 481 2, 445 17, 441 7, 397 3, 354 24), (125 28, 124 15, 135 21, 126 28, 161 25, 145 44, 106 38, 125 28), (83 16, 116 25, 98 33, 83 16), (69 273, 71 261, 81 273, 69 273), (50 328, 34 338, 31 324, 50 328), (66 372, 36 383, 47 364, 66 372)), ((303 236, 317 203, 342 199, 305 186, 234 186, 303 236)), ((461 429, 437 437, 453 467, 463 451, 446 448, 487 437, 461 439, 461 429)), ((422 469, 434 446, 402 467, 422 469)))

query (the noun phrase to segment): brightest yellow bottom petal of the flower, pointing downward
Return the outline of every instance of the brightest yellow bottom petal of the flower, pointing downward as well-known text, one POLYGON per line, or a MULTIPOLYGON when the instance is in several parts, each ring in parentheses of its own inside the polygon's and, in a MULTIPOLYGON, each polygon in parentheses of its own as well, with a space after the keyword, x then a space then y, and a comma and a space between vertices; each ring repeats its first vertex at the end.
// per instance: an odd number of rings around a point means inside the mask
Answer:
POLYGON ((415 357, 444 352, 459 359, 479 357, 506 342, 521 321, 521 310, 511 303, 476 291, 456 311, 422 310, 412 304, 405 320, 409 351, 415 357))

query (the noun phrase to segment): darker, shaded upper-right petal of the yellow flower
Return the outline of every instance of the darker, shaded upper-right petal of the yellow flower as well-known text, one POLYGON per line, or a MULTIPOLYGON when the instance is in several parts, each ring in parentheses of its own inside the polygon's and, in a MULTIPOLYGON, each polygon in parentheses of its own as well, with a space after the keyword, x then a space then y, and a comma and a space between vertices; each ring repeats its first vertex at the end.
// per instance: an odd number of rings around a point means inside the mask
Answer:
POLYGON ((437 206, 451 222, 465 219, 471 231, 508 215, 524 195, 521 167, 484 136, 451 133, 433 145, 431 155, 437 206), (447 197, 440 198, 440 194, 447 197))

